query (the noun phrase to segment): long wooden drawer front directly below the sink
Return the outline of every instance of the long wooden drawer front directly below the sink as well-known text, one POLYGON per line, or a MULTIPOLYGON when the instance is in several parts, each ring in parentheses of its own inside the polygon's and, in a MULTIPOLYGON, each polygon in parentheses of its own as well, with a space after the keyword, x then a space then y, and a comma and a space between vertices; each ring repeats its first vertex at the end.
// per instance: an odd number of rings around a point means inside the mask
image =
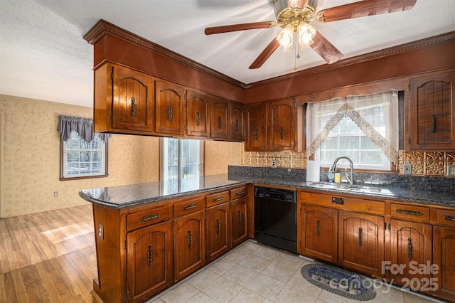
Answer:
POLYGON ((360 211, 373 215, 385 214, 385 202, 354 198, 341 195, 326 195, 322 193, 299 192, 299 202, 329 208, 342 209, 344 211, 360 211))

